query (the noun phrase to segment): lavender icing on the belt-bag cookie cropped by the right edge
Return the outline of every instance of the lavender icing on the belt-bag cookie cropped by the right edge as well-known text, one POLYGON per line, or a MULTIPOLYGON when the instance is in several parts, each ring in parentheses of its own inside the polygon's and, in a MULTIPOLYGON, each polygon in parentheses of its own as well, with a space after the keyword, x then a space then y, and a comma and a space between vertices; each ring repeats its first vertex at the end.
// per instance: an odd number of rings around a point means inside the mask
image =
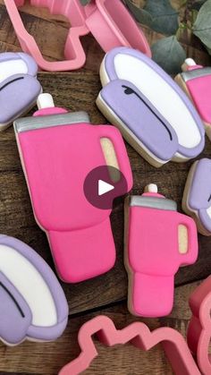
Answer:
POLYGON ((202 158, 195 164, 192 177, 188 205, 191 210, 198 211, 202 225, 211 232, 211 218, 207 209, 211 207, 211 159, 202 158))

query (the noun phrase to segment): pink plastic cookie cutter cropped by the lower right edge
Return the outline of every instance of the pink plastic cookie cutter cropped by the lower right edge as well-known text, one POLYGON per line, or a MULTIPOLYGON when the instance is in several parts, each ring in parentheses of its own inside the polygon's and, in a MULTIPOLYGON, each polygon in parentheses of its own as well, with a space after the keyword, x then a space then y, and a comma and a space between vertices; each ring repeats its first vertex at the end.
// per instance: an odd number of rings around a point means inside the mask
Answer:
POLYGON ((208 353, 211 338, 211 276, 190 295, 192 318, 188 328, 188 344, 197 356, 202 374, 211 374, 211 354, 208 353))

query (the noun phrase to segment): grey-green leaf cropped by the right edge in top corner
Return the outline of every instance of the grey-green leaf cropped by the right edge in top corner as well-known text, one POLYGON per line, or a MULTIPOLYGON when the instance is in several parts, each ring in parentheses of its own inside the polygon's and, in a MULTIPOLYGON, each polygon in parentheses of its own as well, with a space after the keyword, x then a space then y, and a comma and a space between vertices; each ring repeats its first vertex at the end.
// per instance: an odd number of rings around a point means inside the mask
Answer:
POLYGON ((211 0, 207 0, 198 12, 198 17, 192 27, 193 33, 204 43, 207 48, 211 48, 211 0))

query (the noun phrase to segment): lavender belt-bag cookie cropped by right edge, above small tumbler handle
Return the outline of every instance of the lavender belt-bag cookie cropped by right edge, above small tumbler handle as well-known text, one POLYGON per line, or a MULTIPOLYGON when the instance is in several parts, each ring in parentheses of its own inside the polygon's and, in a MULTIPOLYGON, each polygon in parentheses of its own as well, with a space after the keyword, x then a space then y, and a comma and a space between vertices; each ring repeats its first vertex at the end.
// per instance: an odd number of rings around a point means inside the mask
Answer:
POLYGON ((194 218, 198 232, 211 235, 211 159, 202 158, 190 168, 182 209, 194 218))

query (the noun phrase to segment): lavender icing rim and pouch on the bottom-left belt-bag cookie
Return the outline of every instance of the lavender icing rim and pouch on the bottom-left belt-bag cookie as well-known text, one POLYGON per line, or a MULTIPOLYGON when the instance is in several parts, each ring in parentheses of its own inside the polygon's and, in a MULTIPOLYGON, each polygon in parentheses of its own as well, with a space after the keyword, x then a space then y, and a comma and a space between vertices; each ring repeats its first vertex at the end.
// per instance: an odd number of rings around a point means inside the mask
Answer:
POLYGON ((13 237, 0 235, 0 245, 6 245, 18 251, 37 268, 52 294, 57 315, 57 323, 54 326, 34 326, 30 306, 16 286, 13 286, 12 282, 1 272, 0 265, 0 337, 9 345, 17 345, 26 337, 41 341, 55 340, 60 337, 67 325, 68 304, 54 272, 46 261, 25 243, 13 237))

